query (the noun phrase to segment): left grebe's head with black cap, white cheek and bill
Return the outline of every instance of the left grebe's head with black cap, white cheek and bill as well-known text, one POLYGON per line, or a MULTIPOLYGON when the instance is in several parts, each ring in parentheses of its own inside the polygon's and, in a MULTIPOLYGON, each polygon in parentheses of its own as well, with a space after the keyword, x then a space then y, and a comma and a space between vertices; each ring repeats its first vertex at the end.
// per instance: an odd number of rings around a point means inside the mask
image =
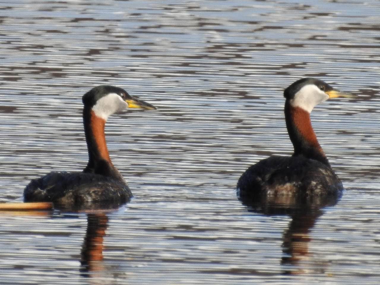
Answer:
POLYGON ((83 95, 85 108, 90 108, 98 117, 107 119, 110 115, 127 108, 155 110, 156 107, 132 97, 122 88, 111 85, 99 85, 83 95))

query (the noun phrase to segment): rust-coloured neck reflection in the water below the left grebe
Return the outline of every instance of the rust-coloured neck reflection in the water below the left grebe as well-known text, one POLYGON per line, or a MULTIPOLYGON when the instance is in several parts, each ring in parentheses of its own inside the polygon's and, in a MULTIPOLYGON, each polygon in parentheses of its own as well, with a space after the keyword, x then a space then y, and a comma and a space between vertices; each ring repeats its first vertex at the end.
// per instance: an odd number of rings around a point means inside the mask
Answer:
POLYGON ((103 266, 103 239, 108 226, 108 217, 105 213, 88 214, 86 236, 81 251, 81 271, 102 271, 103 266))

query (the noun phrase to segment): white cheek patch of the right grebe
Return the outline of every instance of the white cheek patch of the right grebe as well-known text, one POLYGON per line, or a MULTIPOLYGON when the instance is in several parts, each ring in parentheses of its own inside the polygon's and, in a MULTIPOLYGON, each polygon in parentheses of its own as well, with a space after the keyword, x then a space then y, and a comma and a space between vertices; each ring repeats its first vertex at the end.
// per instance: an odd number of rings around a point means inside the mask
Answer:
POLYGON ((315 106, 326 101, 329 96, 320 90, 314 84, 308 84, 302 87, 290 100, 290 105, 299 107, 307 112, 311 112, 315 106))

